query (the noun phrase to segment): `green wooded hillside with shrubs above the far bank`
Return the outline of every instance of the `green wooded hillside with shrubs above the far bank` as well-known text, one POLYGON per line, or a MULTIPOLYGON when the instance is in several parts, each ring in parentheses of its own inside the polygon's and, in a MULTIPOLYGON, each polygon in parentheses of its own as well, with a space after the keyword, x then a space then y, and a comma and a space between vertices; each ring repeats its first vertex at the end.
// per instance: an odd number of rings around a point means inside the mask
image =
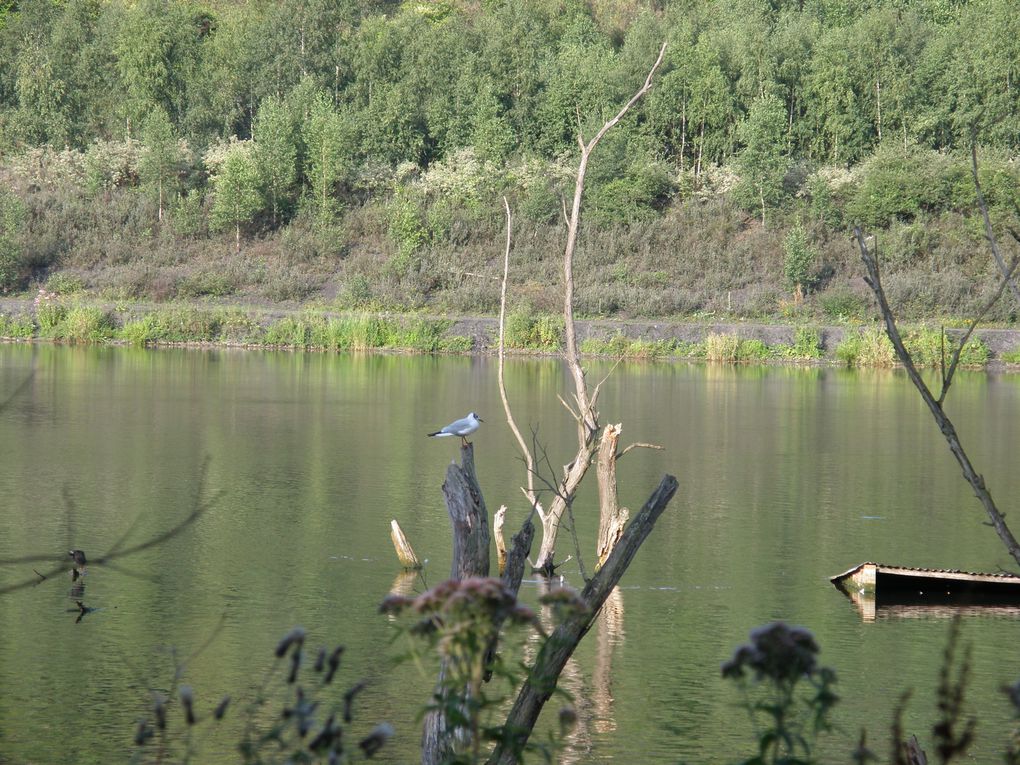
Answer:
POLYGON ((663 41, 590 172, 580 310, 854 315, 854 222, 908 315, 993 289, 970 147, 1008 223, 1014 0, 6 0, 0 288, 489 311, 505 195, 541 310, 577 132, 663 41))

